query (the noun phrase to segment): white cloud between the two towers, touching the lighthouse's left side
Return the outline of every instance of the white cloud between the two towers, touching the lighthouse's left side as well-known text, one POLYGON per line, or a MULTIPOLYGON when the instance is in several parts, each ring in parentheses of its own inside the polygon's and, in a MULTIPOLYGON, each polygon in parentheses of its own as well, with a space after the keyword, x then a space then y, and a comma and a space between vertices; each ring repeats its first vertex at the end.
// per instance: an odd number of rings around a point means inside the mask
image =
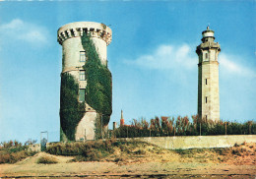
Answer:
POLYGON ((134 61, 125 60, 125 62, 156 70, 193 69, 198 63, 197 56, 193 53, 194 50, 188 44, 181 46, 161 44, 152 54, 141 55, 134 61))

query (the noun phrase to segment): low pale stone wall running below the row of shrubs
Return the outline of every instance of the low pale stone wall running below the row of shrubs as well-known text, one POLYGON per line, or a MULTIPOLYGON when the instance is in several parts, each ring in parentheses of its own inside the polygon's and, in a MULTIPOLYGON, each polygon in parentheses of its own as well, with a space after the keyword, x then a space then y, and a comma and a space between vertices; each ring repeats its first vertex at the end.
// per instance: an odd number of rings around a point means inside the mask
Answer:
POLYGON ((256 135, 178 136, 153 138, 126 138, 127 141, 147 142, 163 149, 229 148, 234 144, 256 143, 256 135))

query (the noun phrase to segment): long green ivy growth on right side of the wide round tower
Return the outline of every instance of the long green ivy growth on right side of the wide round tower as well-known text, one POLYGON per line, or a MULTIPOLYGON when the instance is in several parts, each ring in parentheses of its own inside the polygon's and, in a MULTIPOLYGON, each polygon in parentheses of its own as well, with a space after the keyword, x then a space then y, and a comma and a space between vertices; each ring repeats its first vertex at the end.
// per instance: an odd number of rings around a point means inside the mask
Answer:
POLYGON ((87 60, 84 66, 87 78, 86 101, 99 115, 102 125, 108 124, 112 113, 112 76, 107 66, 101 64, 90 34, 81 37, 87 60))

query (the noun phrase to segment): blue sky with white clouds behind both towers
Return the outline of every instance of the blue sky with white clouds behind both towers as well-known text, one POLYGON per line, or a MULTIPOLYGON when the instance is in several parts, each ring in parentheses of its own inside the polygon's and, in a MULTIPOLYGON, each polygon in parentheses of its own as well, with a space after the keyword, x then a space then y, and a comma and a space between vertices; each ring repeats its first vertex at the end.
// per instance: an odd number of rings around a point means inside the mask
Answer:
POLYGON ((0 141, 59 140, 61 46, 57 30, 80 21, 113 31, 109 123, 197 112, 197 54, 210 23, 221 44, 221 118, 256 119, 255 1, 0 3, 0 141))

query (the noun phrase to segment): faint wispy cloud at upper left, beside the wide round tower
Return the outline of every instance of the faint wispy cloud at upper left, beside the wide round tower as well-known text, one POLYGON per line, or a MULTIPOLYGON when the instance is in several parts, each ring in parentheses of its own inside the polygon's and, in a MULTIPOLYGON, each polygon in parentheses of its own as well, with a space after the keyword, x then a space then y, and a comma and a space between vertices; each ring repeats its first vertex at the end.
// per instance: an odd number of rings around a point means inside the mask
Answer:
POLYGON ((15 19, 8 24, 0 25, 1 39, 20 39, 32 44, 47 43, 48 31, 40 26, 15 19), (4 34, 4 35, 3 35, 4 34))

